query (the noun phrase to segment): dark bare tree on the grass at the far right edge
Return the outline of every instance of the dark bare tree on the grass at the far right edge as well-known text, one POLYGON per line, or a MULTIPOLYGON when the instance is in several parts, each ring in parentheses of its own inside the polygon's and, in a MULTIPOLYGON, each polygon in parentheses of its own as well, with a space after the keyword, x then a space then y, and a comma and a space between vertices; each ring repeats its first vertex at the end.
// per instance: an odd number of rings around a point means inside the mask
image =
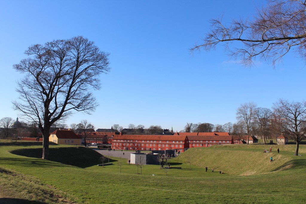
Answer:
POLYGON ((279 99, 273 103, 273 110, 279 118, 280 132, 296 141, 295 155, 298 155, 300 141, 306 139, 306 102, 279 99))

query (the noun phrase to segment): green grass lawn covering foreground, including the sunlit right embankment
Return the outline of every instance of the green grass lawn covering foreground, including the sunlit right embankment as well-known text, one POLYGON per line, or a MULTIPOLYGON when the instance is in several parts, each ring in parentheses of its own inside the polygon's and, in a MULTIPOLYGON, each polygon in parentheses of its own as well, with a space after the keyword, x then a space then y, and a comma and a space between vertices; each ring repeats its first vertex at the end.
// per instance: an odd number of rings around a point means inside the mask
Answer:
MULTIPOLYGON (((126 160, 120 173, 119 158, 104 168, 93 161, 82 166, 84 154, 88 159, 96 155, 84 147, 50 146, 54 154, 60 152, 54 157, 65 158, 58 159, 60 163, 35 158, 39 145, 1 144, 0 203, 5 197, 22 198, 19 203, 304 203, 306 197, 306 158, 293 156, 294 145, 278 146, 279 154, 276 145, 272 153, 263 153, 269 145, 192 148, 170 160, 171 166, 182 169, 170 169, 166 176, 159 165, 146 165, 142 175, 137 174, 137 167, 126 160), (79 158, 76 165, 67 165, 71 151, 79 158), (21 156, 25 152, 27 156, 21 156)), ((301 145, 300 154, 305 152, 301 145)))

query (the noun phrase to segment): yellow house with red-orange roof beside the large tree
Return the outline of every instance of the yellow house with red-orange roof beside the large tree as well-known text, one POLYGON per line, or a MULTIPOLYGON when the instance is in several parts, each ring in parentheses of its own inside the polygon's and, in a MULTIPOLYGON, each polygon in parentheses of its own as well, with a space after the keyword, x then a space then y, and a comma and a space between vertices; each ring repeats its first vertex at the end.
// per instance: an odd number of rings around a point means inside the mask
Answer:
POLYGON ((82 138, 72 130, 55 130, 49 136, 49 141, 57 144, 81 145, 82 138))

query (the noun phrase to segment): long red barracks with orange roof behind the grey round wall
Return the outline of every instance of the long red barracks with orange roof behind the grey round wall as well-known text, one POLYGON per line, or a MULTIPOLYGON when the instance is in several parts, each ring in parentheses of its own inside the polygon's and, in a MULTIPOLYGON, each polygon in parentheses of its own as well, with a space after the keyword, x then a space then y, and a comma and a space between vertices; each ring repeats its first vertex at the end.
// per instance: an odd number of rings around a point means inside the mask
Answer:
POLYGON ((177 150, 189 148, 186 135, 115 135, 112 149, 115 150, 177 150))

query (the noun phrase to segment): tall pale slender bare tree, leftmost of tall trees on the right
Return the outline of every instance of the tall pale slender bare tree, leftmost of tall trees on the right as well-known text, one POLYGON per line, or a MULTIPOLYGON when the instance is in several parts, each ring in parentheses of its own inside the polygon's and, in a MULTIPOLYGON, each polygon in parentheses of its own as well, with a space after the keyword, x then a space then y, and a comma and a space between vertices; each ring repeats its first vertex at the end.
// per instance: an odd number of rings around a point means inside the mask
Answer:
POLYGON ((251 130, 251 121, 254 119, 256 111, 256 104, 254 102, 248 102, 241 104, 236 111, 236 118, 238 121, 244 121, 246 132, 248 134, 248 144, 251 130))

